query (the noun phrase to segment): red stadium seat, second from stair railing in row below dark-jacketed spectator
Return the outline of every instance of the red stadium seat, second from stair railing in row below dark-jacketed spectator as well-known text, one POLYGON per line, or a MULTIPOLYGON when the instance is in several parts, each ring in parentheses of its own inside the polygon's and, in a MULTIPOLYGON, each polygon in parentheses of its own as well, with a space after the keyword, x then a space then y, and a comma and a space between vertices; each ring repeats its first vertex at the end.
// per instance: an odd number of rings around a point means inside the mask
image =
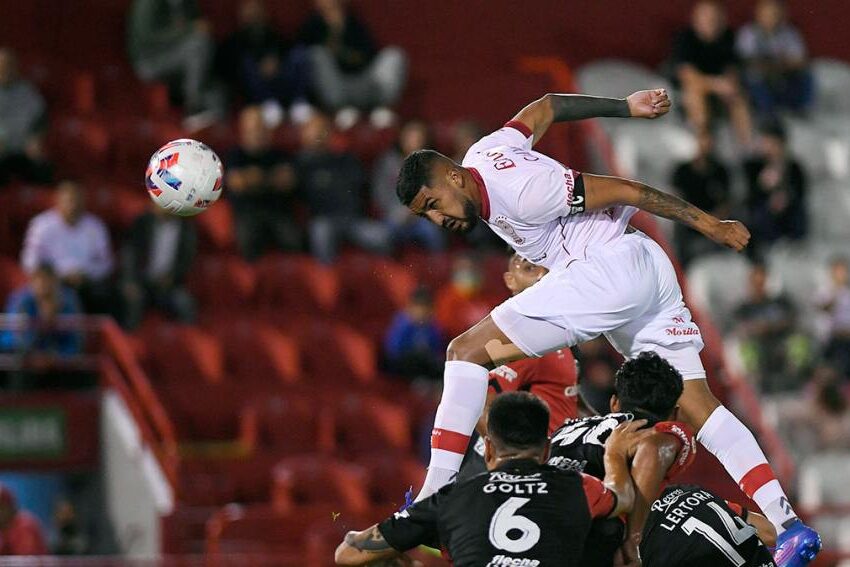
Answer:
POLYGON ((268 323, 242 319, 213 333, 224 348, 228 376, 245 387, 275 391, 303 375, 298 343, 268 323))

